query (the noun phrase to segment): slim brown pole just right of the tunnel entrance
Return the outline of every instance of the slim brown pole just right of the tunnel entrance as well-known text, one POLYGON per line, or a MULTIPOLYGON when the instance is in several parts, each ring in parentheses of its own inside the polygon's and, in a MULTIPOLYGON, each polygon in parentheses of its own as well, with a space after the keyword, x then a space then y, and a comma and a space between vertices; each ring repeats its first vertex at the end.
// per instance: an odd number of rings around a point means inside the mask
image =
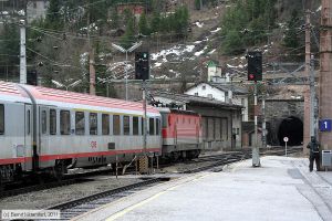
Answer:
MULTIPOLYGON (((311 55, 311 21, 310 21, 310 10, 305 11, 305 76, 310 83, 310 55, 311 55)), ((304 86, 304 125, 303 125, 303 151, 308 152, 307 144, 310 141, 311 136, 311 88, 310 86, 304 86)))

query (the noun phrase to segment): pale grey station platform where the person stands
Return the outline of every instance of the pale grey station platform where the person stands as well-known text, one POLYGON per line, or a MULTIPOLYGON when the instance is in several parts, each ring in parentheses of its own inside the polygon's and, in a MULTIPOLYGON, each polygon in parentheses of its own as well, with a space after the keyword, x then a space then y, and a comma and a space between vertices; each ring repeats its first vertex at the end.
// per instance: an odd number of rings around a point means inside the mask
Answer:
POLYGON ((307 158, 269 156, 219 172, 179 177, 75 220, 332 221, 332 172, 309 172, 307 158))

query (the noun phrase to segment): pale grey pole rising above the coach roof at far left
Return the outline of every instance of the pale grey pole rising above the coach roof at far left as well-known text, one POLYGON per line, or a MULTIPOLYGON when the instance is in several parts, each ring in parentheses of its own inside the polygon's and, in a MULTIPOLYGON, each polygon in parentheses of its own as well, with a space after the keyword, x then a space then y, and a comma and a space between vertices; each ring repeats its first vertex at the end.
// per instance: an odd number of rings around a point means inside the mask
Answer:
POLYGON ((27 84, 25 21, 20 20, 20 84, 27 84))

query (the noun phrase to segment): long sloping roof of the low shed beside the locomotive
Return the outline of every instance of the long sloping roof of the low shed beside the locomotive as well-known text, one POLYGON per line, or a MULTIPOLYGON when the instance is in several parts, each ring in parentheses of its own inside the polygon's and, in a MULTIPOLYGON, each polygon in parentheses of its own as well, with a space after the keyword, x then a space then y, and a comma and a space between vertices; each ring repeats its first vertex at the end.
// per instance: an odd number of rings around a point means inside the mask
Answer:
POLYGON ((227 109, 241 109, 243 106, 235 105, 235 104, 228 104, 225 102, 220 102, 217 99, 211 99, 207 97, 199 97, 199 96, 193 96, 187 94, 174 94, 169 92, 152 92, 153 96, 159 96, 165 97, 168 99, 173 99, 175 102, 179 102, 186 105, 204 105, 204 106, 215 106, 215 107, 224 107, 227 109))

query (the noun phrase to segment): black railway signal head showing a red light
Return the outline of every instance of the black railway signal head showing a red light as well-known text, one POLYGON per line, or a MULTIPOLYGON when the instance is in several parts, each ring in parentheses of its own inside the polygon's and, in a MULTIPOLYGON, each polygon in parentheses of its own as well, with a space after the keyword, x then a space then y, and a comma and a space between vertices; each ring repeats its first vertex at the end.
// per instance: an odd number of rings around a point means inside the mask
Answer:
POLYGON ((261 52, 248 52, 248 81, 262 81, 261 52))

